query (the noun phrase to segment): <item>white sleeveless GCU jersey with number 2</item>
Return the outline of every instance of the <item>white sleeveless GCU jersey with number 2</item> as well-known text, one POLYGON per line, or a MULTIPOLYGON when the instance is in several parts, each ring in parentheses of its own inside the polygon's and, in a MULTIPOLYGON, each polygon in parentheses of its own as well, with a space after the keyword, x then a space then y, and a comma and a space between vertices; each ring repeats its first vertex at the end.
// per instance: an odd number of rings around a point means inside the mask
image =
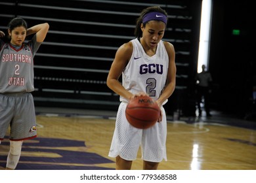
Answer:
MULTIPOLYGON (((163 41, 158 43, 156 54, 151 57, 144 52, 138 39, 131 42, 133 54, 122 73, 123 87, 134 94, 148 93, 156 100, 165 86, 169 66, 169 57, 163 41)), ((121 96, 120 101, 127 102, 127 99, 121 96)))

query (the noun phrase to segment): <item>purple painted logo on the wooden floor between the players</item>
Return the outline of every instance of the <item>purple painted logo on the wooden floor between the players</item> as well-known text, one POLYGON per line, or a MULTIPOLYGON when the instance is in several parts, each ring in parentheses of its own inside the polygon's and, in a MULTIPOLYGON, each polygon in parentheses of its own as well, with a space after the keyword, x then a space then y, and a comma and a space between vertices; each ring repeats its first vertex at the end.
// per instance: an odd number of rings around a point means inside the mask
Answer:
MULTIPOLYGON (((4 141, 1 145, 10 143, 4 141)), ((112 168, 102 164, 114 163, 95 152, 87 152, 85 141, 37 137, 24 141, 22 150, 27 155, 20 156, 18 170, 107 170, 112 168)), ((5 167, 6 158, 6 154, 0 154, 0 167, 5 167)))

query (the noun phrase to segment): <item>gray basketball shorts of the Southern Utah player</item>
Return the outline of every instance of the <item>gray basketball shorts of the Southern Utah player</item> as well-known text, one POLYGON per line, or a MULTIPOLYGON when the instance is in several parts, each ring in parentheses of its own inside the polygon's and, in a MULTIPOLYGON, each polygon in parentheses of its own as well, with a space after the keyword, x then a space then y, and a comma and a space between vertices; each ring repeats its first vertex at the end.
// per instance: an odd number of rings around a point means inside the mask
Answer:
POLYGON ((31 93, 0 93, 0 141, 10 127, 10 140, 22 141, 37 136, 35 106, 31 93))

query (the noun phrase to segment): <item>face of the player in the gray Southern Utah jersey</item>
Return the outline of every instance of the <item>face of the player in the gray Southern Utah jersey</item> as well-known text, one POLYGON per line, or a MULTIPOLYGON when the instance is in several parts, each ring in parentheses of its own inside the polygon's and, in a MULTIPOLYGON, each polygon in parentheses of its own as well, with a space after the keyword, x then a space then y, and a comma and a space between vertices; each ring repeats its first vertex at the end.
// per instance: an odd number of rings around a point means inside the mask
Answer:
POLYGON ((21 46, 26 38, 26 28, 23 26, 15 27, 12 31, 9 30, 9 35, 11 36, 11 43, 16 46, 21 46))

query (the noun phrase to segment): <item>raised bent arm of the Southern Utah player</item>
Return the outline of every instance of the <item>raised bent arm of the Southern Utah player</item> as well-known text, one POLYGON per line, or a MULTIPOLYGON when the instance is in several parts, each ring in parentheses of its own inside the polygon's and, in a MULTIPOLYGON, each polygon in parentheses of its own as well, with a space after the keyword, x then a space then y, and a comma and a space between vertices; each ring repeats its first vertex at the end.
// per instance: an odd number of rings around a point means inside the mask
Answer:
POLYGON ((27 29, 27 36, 35 33, 37 42, 43 42, 45 40, 48 30, 49 30, 48 23, 34 25, 33 27, 30 27, 27 29))

